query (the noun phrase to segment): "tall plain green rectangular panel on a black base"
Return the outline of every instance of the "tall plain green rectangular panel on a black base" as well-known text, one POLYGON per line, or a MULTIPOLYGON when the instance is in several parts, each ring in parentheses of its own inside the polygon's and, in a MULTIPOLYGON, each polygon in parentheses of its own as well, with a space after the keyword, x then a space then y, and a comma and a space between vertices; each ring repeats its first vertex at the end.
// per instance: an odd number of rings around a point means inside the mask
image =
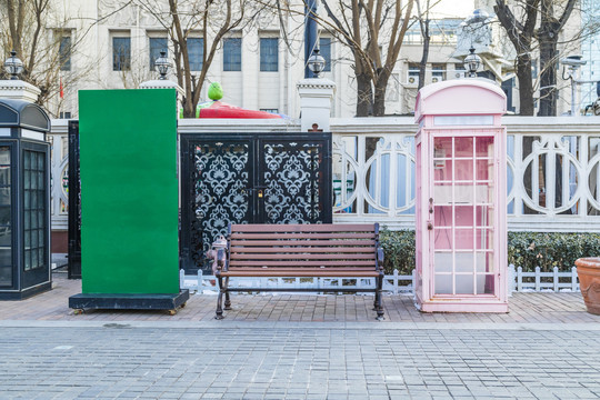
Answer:
POLYGON ((174 89, 79 92, 83 293, 179 293, 174 89))

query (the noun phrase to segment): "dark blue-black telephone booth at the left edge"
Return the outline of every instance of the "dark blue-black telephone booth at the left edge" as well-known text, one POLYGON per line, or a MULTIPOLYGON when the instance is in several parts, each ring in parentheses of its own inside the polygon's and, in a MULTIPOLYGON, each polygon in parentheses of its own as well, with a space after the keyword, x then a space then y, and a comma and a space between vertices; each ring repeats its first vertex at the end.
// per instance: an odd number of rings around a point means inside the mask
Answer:
POLYGON ((52 287, 49 130, 39 106, 0 99, 0 300, 52 287))

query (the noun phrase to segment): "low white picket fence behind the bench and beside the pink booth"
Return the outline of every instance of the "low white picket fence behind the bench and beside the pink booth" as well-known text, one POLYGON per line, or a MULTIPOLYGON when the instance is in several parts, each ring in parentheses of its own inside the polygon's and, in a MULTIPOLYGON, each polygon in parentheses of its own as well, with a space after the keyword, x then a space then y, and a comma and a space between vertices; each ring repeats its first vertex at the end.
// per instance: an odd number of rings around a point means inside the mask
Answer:
MULTIPOLYGON (((213 276, 186 276, 179 271, 180 286, 183 289, 202 293, 217 293, 219 288, 213 276)), ((391 294, 413 293, 416 271, 410 276, 401 276, 398 270, 388 274, 383 280, 383 290, 391 294)), ((579 291, 577 267, 570 272, 559 272, 554 267, 552 272, 541 272, 536 267, 536 272, 523 272, 521 267, 509 266, 509 291, 579 291)), ((313 289, 317 292, 343 292, 346 289, 373 287, 374 278, 231 278, 230 287, 233 288, 277 288, 282 291, 286 288, 313 289)))

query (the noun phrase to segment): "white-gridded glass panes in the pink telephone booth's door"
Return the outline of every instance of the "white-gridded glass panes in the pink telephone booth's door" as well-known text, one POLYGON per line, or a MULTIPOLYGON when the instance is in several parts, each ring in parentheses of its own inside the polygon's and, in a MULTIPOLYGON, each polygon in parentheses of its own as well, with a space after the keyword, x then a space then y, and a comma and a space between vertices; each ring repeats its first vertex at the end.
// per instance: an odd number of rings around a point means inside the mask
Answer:
POLYGON ((432 141, 432 293, 496 294, 493 132, 432 141))

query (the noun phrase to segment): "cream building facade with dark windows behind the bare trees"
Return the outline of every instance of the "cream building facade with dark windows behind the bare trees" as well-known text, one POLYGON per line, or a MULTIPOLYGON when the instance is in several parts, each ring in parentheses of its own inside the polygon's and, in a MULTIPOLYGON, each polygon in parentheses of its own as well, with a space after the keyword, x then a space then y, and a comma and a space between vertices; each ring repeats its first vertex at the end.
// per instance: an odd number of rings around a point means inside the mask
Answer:
MULTIPOLYGON (((53 44, 56 48, 60 72, 47 108, 56 118, 77 117, 78 90, 137 88, 141 82, 157 78, 153 61, 160 51, 167 51, 168 57, 172 58, 173 46, 169 38, 169 27, 161 21, 160 13, 152 9, 166 7, 161 4, 164 2, 64 0, 51 3, 44 40, 48 46, 53 44)), ((224 90, 226 102, 293 118, 299 116, 296 82, 303 78, 304 70, 304 17, 302 1, 290 3, 296 7, 293 12, 279 16, 272 10, 264 11, 256 22, 232 30, 226 36, 208 71, 200 101, 208 100, 208 83, 219 81, 224 90)), ((483 69, 491 70, 490 76, 504 89, 509 111, 518 113, 519 88, 513 74, 514 50, 506 37, 498 33, 500 28, 493 18, 493 4, 494 1, 491 0, 443 0, 436 3, 428 14, 431 44, 424 83, 463 77, 463 53, 457 51, 459 30, 461 22, 472 14, 474 9, 479 9, 490 16, 490 31, 496 32, 490 36, 492 42, 484 44, 494 50, 493 57, 482 54, 483 69)), ((326 14, 322 7, 319 13, 326 14)), ((579 42, 570 40, 580 30, 581 17, 578 11, 573 11, 559 40, 564 43, 561 44, 561 52, 580 51, 579 42)), ((190 68, 199 76, 203 56, 201 30, 191 30, 187 40, 190 48, 190 68)), ((388 83, 387 114, 409 114, 413 111, 422 43, 421 29, 414 19, 388 83)), ((357 102, 353 58, 348 48, 324 29, 320 30, 319 46, 327 60, 323 76, 337 84, 333 117, 353 117, 357 102)), ((589 51, 597 53, 591 48, 589 51)), ((594 66, 594 62, 590 62, 589 67, 594 66)), ((539 89, 539 57, 533 54, 536 91, 539 89)), ((169 79, 177 80, 172 72, 169 79)), ((570 108, 569 82, 559 76, 557 87, 560 91, 558 114, 561 114, 570 108)))

